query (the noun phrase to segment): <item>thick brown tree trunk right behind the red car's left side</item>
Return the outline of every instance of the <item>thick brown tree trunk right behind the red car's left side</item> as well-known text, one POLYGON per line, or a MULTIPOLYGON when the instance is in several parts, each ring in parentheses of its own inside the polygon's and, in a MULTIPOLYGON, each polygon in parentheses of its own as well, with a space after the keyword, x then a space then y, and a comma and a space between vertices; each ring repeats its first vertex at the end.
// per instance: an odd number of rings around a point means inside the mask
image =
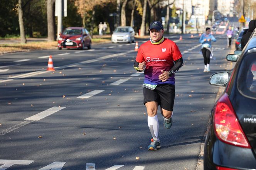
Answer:
POLYGON ((54 34, 54 2, 55 0, 47 0, 47 35, 48 41, 54 41, 55 34, 54 34))

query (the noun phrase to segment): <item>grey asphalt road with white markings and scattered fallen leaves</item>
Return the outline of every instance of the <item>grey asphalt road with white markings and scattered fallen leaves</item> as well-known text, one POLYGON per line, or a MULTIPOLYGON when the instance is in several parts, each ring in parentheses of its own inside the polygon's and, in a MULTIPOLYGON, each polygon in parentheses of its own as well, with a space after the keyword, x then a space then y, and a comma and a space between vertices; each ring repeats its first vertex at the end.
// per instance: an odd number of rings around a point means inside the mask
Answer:
POLYGON ((229 69, 225 58, 231 49, 225 35, 216 35, 216 60, 204 73, 199 36, 169 38, 185 64, 175 74, 172 128, 164 129, 158 113, 157 151, 147 150, 151 135, 143 74, 133 69, 135 43, 2 55, 0 170, 202 168, 200 149, 219 91, 208 81, 212 73, 229 69), (49 55, 55 72, 46 71, 49 55))

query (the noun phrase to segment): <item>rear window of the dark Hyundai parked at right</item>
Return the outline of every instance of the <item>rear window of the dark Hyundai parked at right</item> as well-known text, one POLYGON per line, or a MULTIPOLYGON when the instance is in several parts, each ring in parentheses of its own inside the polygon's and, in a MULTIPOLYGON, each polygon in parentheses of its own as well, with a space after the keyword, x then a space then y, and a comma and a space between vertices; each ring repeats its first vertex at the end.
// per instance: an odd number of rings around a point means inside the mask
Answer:
POLYGON ((244 57, 238 73, 237 88, 249 98, 256 98, 256 52, 244 57))

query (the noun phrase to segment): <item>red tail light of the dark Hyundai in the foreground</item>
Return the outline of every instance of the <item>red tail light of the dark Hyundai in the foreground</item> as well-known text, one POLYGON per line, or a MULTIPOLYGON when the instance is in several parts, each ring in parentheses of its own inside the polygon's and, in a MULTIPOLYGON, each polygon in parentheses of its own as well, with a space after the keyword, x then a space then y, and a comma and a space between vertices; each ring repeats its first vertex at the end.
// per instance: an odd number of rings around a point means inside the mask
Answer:
POLYGON ((216 103, 213 123, 215 133, 221 141, 251 148, 226 93, 216 103))

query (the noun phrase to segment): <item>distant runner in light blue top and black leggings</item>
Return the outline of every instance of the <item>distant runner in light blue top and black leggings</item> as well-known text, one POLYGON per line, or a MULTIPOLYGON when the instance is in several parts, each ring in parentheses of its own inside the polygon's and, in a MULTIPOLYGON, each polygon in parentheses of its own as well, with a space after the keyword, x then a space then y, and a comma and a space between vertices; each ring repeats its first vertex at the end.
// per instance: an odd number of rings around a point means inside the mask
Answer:
POLYGON ((211 28, 207 27, 205 33, 203 33, 199 39, 199 43, 202 43, 201 52, 204 57, 204 72, 210 72, 210 57, 212 52, 212 41, 216 42, 216 38, 211 34, 211 28))

